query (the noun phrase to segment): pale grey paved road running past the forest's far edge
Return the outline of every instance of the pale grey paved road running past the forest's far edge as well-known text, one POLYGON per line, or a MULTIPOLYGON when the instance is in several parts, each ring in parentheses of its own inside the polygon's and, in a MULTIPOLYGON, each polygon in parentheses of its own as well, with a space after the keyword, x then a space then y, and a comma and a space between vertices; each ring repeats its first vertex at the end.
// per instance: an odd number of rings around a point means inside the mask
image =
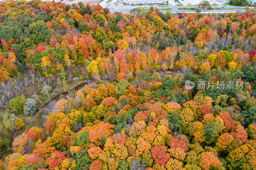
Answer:
MULTIPOLYGON (((114 0, 113 0, 114 1, 114 0)), ((121 12, 121 13, 130 13, 131 9, 133 8, 137 8, 138 6, 125 6, 122 3, 107 3, 108 0, 103 0, 101 1, 99 4, 103 7, 103 8, 108 8, 110 13, 114 13, 114 12, 121 12)), ((223 3, 225 2, 220 2, 217 0, 212 0, 213 4, 217 4, 219 6, 212 6, 213 8, 219 8, 218 10, 206 10, 206 8, 204 10, 202 10, 201 8, 201 13, 226 13, 226 12, 236 12, 236 11, 240 11, 240 12, 245 12, 244 7, 237 7, 237 6, 225 6, 223 3), (228 10, 226 10, 226 8, 228 8, 228 10), (231 10, 232 8, 234 8, 234 10, 231 10)), ((149 5, 140 5, 140 7, 145 8, 145 10, 149 10, 150 6, 149 5)), ((167 6, 157 6, 157 5, 153 5, 153 7, 159 9, 159 11, 166 13, 166 11, 170 11, 171 13, 178 13, 178 12, 186 12, 186 13, 193 13, 195 11, 185 11, 186 9, 184 9, 184 11, 182 10, 178 10, 178 8, 198 8, 198 6, 177 6, 175 4, 174 1, 169 2, 169 5, 167 6)))

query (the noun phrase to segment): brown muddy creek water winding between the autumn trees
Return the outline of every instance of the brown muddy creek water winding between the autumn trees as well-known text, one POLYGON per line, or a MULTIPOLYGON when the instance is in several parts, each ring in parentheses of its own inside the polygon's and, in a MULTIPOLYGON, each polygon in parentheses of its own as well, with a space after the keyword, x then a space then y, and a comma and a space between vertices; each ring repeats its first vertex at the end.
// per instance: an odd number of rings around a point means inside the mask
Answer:
MULTIPOLYGON (((154 72, 161 72, 161 70, 159 71, 152 71, 151 73, 153 74, 154 72)), ((180 69, 168 69, 166 71, 163 71, 164 74, 179 74, 181 73, 180 72, 180 69)), ((192 70, 191 74, 196 74, 196 75, 199 75, 199 72, 197 70, 192 70)), ((93 81, 95 81, 95 79, 90 79, 90 80, 87 80, 79 85, 77 85, 74 90, 75 92, 81 90, 82 88, 84 88, 84 85, 89 85, 91 84, 93 81)), ((63 94, 64 96, 66 96, 68 94, 68 92, 63 92, 61 93, 63 94)), ((58 94, 56 97, 54 97, 52 100, 50 100, 48 103, 46 103, 46 105, 44 105, 43 108, 46 108, 48 110, 52 110, 54 105, 60 100, 60 94, 58 94)))

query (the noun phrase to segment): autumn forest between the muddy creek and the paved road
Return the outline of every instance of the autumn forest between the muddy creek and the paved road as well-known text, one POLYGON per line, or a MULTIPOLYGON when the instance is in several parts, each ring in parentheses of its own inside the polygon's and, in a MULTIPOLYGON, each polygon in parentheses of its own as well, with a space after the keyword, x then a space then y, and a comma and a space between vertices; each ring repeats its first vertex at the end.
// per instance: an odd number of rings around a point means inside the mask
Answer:
POLYGON ((249 61, 255 63, 251 51, 256 48, 255 12, 251 9, 172 17, 157 9, 111 14, 100 5, 78 5, 1 2, 1 80, 24 70, 52 76, 62 68, 90 62, 85 71, 94 77, 184 66, 241 68, 249 61))

